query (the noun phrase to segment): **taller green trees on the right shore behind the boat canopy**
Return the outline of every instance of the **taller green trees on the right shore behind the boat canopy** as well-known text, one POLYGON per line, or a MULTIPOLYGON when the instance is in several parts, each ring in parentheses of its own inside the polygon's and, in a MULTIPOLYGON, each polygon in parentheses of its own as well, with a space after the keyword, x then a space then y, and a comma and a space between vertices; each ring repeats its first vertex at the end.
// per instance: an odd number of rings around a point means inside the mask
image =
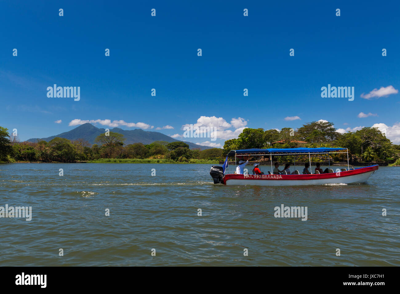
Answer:
MULTIPOLYGON (((332 122, 314 121, 301 128, 264 130, 246 128, 237 139, 225 141, 224 152, 250 148, 343 147, 348 148, 350 162, 395 162, 400 145, 392 144, 378 128, 365 127, 340 134, 332 122)), ((333 160, 347 161, 346 154, 331 155, 333 160)), ((282 158, 283 159, 283 158, 282 158)))

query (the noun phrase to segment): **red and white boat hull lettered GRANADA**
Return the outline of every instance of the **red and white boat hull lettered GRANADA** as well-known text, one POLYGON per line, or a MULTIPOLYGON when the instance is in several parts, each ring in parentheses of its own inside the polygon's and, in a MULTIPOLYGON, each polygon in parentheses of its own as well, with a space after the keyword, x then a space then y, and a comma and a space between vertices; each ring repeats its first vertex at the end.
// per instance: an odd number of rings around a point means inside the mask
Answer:
POLYGON ((243 175, 227 174, 224 176, 226 185, 256 185, 256 186, 305 186, 325 184, 359 184, 365 183, 378 170, 378 165, 356 168, 345 172, 330 174, 299 174, 299 175, 243 175))

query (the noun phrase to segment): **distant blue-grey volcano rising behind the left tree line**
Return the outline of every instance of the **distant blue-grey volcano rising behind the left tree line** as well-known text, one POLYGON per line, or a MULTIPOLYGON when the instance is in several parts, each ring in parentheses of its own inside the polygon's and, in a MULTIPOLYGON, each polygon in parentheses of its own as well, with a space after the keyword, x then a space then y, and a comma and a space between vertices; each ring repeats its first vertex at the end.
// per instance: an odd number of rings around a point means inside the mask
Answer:
MULTIPOLYGON (((106 132, 105 129, 99 129, 93 126, 90 123, 82 124, 78 126, 77 128, 74 128, 73 130, 70 130, 68 132, 64 132, 61 134, 58 134, 56 136, 51 136, 47 138, 32 138, 27 140, 28 142, 38 142, 39 141, 46 141, 49 142, 50 140, 60 137, 60 138, 66 138, 68 140, 77 140, 80 138, 83 138, 89 142, 89 144, 94 144, 94 139, 100 134, 104 134, 106 132)), ((136 129, 136 130, 122 130, 120 128, 113 128, 110 129, 110 132, 115 132, 115 133, 120 133, 124 135, 126 138, 124 145, 128 144, 133 144, 133 143, 143 143, 143 144, 151 144, 154 141, 166 141, 166 142, 185 142, 186 144, 189 145, 190 149, 193 148, 200 148, 200 150, 204 149, 210 149, 213 147, 208 147, 208 146, 201 146, 194 144, 192 142, 187 142, 187 141, 181 141, 181 140, 176 140, 174 138, 171 138, 170 136, 164 135, 160 132, 148 132, 144 131, 141 129, 136 129)))

